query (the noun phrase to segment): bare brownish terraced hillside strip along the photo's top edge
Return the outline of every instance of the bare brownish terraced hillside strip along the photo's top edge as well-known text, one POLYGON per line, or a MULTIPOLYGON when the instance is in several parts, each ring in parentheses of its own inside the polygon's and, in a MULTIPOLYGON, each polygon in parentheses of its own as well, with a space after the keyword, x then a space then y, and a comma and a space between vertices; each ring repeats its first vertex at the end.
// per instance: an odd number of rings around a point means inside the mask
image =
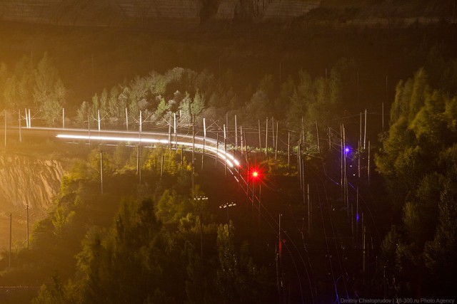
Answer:
POLYGON ((455 20, 455 1, 394 0, 0 0, 0 19, 66 26, 181 28, 207 21, 290 22, 371 19, 455 20))

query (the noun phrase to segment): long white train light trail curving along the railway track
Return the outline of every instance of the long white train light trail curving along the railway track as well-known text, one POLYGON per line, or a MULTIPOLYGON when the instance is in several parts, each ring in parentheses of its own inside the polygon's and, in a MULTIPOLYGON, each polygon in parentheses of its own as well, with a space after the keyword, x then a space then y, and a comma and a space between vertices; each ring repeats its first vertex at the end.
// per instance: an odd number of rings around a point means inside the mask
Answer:
MULTIPOLYGON (((144 142, 146 144, 164 144, 164 145, 169 145, 171 144, 177 144, 181 146, 187 146, 187 147, 192 147, 191 142, 175 142, 172 140, 169 142, 169 140, 156 140, 154 138, 144 138, 142 137, 141 139, 139 137, 119 137, 119 136, 88 136, 88 135, 69 135, 69 134, 59 134, 56 135, 57 138, 62 138, 62 139, 67 139, 67 140, 99 140, 99 141, 110 141, 110 142, 144 142)), ((239 166, 238 160, 233 157, 233 155, 226 153, 224 150, 221 149, 216 149, 214 147, 209 147, 207 145, 201 145, 201 144, 195 144, 195 147, 197 149, 204 149, 205 151, 213 152, 214 154, 217 154, 218 157, 221 157, 222 159, 227 160, 227 165, 229 167, 233 167, 234 165, 239 166)))

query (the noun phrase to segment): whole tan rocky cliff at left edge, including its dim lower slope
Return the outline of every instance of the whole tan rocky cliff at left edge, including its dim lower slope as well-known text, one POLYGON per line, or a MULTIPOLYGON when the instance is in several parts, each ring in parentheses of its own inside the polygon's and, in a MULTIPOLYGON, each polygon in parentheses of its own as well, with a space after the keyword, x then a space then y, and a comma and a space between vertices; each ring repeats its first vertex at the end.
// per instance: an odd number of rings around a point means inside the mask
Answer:
POLYGON ((56 160, 0 154, 0 251, 9 250, 10 225, 13 248, 26 246, 26 205, 31 233, 34 222, 43 218, 59 194, 63 174, 62 164, 56 160))

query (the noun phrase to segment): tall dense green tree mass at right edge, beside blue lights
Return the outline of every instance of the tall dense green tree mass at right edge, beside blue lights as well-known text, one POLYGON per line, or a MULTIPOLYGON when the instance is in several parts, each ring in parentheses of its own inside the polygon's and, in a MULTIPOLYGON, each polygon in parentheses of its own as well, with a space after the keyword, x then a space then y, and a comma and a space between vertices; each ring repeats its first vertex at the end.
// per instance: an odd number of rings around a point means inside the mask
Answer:
POLYGON ((393 206, 403 211, 403 233, 388 234, 383 251, 396 276, 396 288, 427 295, 447 294, 457 270, 455 261, 456 120, 454 98, 432 90, 425 70, 397 85, 391 110, 391 127, 376 155, 378 172, 386 179, 393 206), (395 239, 395 246, 392 239, 395 239), (395 248, 395 250, 393 250, 395 248), (452 273, 451 273, 452 272, 452 273), (439 283, 437 283, 439 282, 439 283))

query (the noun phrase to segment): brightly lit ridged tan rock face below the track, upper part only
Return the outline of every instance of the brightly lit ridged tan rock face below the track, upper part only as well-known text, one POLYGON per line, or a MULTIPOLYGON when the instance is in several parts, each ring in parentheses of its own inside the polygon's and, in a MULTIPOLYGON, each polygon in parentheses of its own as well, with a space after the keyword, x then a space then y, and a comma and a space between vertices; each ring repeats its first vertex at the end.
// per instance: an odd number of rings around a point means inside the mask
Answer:
POLYGON ((0 154, 0 201, 4 209, 29 204, 46 210, 59 193, 64 174, 56 160, 42 160, 17 154, 0 154))

